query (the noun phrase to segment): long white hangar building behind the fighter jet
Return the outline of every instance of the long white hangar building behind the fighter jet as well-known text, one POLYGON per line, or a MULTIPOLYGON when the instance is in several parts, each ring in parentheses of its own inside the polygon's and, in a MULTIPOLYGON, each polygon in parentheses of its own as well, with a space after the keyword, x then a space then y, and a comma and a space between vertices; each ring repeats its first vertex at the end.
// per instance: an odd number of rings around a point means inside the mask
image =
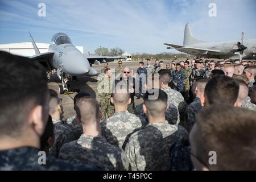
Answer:
MULTIPOLYGON (((40 53, 48 52, 49 44, 46 43, 36 43, 40 53)), ((83 46, 76 46, 79 51, 84 54, 83 46)), ((10 43, 10 44, 0 44, 0 51, 6 51, 19 56, 33 56, 35 55, 35 50, 31 42, 21 42, 21 43, 10 43)))

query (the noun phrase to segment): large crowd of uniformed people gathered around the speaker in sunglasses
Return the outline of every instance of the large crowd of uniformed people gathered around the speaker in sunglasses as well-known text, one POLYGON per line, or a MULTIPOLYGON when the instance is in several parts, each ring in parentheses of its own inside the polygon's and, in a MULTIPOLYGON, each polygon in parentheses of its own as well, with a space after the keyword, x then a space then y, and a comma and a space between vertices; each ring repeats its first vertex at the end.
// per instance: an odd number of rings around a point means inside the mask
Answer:
POLYGON ((0 170, 256 169, 255 61, 148 59, 136 75, 118 61, 101 73, 100 103, 80 92, 64 121, 40 64, 0 52, 0 170))

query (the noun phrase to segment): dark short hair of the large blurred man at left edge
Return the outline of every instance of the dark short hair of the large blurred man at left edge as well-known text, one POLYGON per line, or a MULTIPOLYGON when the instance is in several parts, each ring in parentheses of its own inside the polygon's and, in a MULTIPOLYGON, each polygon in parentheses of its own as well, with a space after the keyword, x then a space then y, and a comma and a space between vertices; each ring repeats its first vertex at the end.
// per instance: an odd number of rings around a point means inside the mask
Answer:
POLYGON ((0 135, 19 137, 31 109, 45 106, 46 71, 34 60, 0 51, 0 135))

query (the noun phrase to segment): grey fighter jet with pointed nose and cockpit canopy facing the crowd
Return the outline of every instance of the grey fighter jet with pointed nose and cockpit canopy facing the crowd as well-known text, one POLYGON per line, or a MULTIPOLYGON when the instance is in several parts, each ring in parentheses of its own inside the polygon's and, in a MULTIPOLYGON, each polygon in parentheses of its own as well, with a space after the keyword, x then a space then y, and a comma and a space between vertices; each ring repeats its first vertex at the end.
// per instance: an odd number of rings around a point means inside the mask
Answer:
POLYGON ((49 52, 40 53, 31 34, 30 37, 36 53, 30 59, 39 61, 47 72, 56 69, 57 77, 62 81, 62 85, 59 85, 60 94, 78 91, 78 89, 70 88, 68 84, 69 81, 76 80, 77 76, 97 75, 97 70, 91 67, 94 62, 100 64, 100 60, 104 62, 105 59, 113 59, 113 57, 104 56, 85 57, 79 49, 73 46, 69 36, 64 33, 53 35, 48 48, 49 52))

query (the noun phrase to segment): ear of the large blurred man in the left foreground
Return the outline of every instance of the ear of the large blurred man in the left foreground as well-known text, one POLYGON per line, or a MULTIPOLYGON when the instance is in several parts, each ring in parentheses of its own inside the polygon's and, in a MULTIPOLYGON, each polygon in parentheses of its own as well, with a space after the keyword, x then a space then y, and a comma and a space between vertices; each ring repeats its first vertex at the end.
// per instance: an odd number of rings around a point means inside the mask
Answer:
POLYGON ((31 110, 28 118, 29 125, 33 127, 33 130, 39 135, 39 137, 43 134, 44 128, 46 127, 46 122, 44 122, 43 118, 43 106, 41 105, 35 106, 34 109, 31 110))

